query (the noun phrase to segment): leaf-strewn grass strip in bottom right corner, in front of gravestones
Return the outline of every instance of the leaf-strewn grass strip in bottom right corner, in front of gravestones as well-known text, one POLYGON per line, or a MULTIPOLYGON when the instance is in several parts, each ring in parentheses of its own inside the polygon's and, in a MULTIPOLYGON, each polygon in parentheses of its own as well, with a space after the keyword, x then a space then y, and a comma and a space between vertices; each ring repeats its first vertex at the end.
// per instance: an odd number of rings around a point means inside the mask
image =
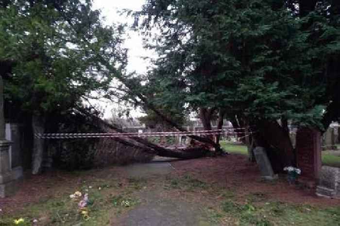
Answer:
POLYGON ((226 200, 221 210, 238 219, 240 226, 339 226, 340 207, 312 208, 282 202, 238 204, 226 200))

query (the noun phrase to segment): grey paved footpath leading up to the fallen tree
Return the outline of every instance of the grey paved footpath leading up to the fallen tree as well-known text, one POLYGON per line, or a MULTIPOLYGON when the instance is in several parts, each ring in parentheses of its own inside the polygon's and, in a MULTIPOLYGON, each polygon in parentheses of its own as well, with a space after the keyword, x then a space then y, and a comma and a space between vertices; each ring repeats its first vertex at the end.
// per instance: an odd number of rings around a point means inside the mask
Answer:
MULTIPOLYGON (((162 159, 128 166, 126 172, 130 177, 147 179, 150 175, 165 175, 172 170, 171 162, 162 159)), ((160 188, 142 192, 139 197, 142 204, 120 219, 119 226, 210 226, 199 207, 161 197, 160 192, 160 188)))

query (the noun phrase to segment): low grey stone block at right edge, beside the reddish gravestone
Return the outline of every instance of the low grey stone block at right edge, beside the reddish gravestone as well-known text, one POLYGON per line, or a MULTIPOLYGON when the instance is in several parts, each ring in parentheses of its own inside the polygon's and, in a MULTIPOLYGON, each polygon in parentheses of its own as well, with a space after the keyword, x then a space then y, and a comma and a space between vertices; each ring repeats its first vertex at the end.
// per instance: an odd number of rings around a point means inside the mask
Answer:
POLYGON ((316 194, 328 198, 340 198, 339 168, 329 166, 322 167, 316 194))

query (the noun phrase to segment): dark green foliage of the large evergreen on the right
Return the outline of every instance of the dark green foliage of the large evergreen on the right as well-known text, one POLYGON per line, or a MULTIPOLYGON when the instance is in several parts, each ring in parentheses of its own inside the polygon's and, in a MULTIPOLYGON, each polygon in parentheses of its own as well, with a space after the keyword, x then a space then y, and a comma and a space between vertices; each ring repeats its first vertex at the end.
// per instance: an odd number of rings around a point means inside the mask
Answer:
POLYGON ((146 35, 161 30, 146 38, 160 56, 146 78, 161 87, 158 103, 323 129, 323 110, 338 99, 339 20, 327 1, 302 1, 303 17, 293 3, 148 0, 135 15, 146 35))

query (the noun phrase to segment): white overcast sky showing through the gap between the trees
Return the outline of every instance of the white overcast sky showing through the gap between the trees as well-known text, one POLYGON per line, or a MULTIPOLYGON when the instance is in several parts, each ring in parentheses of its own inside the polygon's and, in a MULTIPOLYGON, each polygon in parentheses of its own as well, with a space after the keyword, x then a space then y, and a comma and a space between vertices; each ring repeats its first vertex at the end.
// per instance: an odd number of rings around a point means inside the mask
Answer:
MULTIPOLYGON (((133 18, 120 16, 118 11, 123 9, 131 9, 134 11, 141 10, 141 7, 145 0, 93 0, 93 7, 95 9, 100 9, 102 11, 102 16, 104 16, 104 23, 111 25, 113 23, 128 23, 131 25, 133 23, 133 18)), ((136 71, 137 73, 143 74, 147 71, 149 62, 147 60, 141 59, 145 56, 154 56, 154 53, 150 50, 145 50, 143 48, 142 36, 137 32, 127 31, 129 37, 126 38, 124 47, 128 49, 128 72, 136 71)), ((99 103, 104 111, 104 118, 109 118, 112 116, 112 108, 117 108, 117 105, 112 103, 96 102, 99 103)), ((124 107, 124 106, 121 106, 124 107)), ((131 112, 133 117, 141 116, 140 111, 131 112)))

